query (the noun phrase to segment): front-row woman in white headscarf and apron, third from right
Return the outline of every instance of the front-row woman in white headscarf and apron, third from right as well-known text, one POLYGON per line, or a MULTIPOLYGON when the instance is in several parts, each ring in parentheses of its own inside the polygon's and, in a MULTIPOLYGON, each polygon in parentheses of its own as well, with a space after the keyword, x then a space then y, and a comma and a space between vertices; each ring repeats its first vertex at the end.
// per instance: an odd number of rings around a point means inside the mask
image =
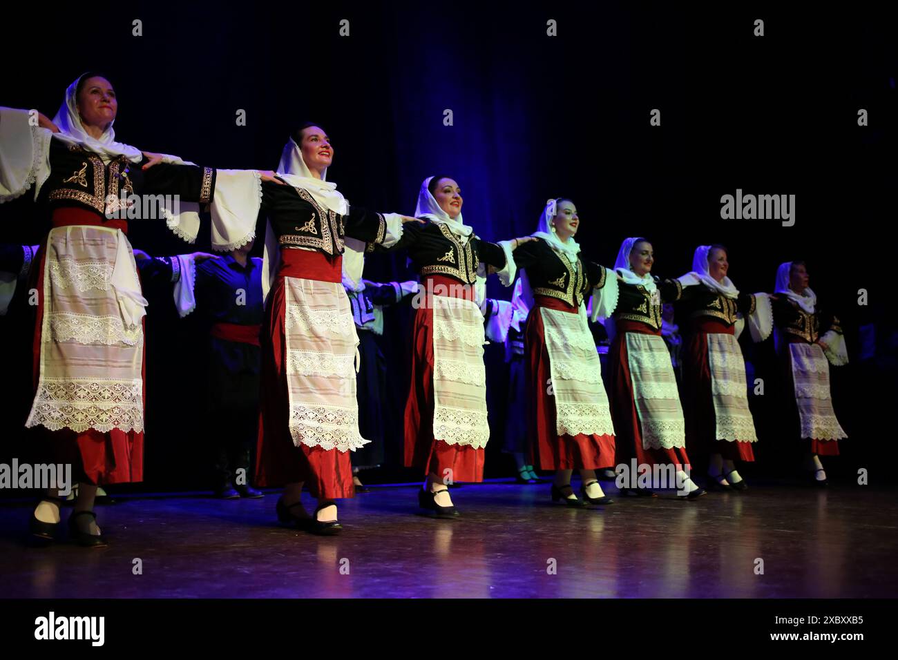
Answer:
MULTIPOLYGON (((623 483, 621 492, 655 497, 651 489, 642 487, 647 480, 645 471, 650 470, 653 481, 666 473, 668 488, 675 477, 677 497, 694 499, 706 491, 689 477, 680 395, 670 355, 661 339, 662 304, 679 299, 682 285, 653 277, 654 263, 652 244, 644 238, 626 239, 614 262, 614 270, 623 281, 612 322, 606 322, 606 327, 614 334, 609 350, 612 417, 621 438, 619 458, 630 472, 629 480, 625 480, 629 483, 623 483), (630 461, 638 462, 638 466, 630 461), (632 473, 634 468, 639 478, 632 473)), ((619 475, 619 485, 623 476, 619 475)))

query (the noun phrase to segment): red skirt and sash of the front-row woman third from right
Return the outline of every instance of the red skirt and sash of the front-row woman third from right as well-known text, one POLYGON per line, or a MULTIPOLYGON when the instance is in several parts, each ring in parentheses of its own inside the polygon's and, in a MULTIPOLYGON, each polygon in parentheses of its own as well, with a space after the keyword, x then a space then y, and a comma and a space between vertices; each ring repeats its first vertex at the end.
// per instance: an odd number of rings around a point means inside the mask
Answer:
POLYGON ((612 419, 618 440, 618 463, 629 464, 631 459, 636 458, 639 464, 665 465, 673 463, 677 469, 682 469, 682 466, 691 469, 685 447, 645 449, 642 446, 639 416, 636 410, 636 401, 633 400, 633 381, 629 373, 626 333, 640 332, 657 335, 660 334, 660 330, 653 331, 645 323, 638 321, 616 321, 616 329, 617 334, 608 351, 608 360, 611 374, 612 419))

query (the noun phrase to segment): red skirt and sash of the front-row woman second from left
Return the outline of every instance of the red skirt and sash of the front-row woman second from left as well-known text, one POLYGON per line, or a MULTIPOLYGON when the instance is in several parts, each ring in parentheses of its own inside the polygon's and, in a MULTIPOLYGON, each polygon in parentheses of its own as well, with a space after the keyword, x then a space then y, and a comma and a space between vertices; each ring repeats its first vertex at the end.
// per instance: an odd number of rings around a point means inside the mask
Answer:
POLYGON ((354 497, 349 452, 296 446, 290 434, 290 395, 286 380, 286 289, 284 277, 339 282, 342 259, 321 252, 282 250, 281 266, 269 292, 261 334, 259 442, 256 485, 262 488, 305 482, 313 497, 354 497), (336 277, 336 279, 334 279, 336 277))

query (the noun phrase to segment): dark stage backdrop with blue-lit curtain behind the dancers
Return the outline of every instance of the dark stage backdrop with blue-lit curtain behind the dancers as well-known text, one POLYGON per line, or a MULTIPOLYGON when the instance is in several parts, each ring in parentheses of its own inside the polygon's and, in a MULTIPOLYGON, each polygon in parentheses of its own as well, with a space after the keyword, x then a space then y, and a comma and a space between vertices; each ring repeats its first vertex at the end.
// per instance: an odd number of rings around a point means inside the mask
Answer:
MULTIPOLYGON (((119 95, 117 139, 142 149, 275 169, 290 131, 311 119, 333 139, 328 179, 358 206, 411 214, 421 180, 441 172, 459 181, 465 222, 488 240, 533 232, 546 199, 563 195, 577 204, 585 255, 608 266, 632 235, 647 236, 656 273, 674 277, 691 268, 697 245, 722 242, 744 291, 771 291, 781 261, 806 260, 812 288, 844 322, 851 356, 832 370, 850 440, 827 466, 846 476, 874 467, 876 450, 893 441, 883 417, 898 393, 889 241, 898 173, 894 10, 137 2, 81 13, 41 8, 40 20, 36 5, 3 11, 0 104, 52 118, 66 86, 99 70, 119 95), (349 37, 339 36, 344 18, 349 37), (758 18, 763 37, 753 36, 758 18), (132 36, 135 19, 141 37, 132 36), (557 37, 546 34, 549 19, 557 37), (860 108, 869 113, 865 128, 860 108), (235 125, 239 109, 243 127, 235 125), (660 127, 649 125, 652 109, 661 110, 660 127), (796 224, 721 220, 720 197, 737 188, 795 194, 796 224), (860 288, 867 306, 858 305, 860 288), (861 327, 875 328, 875 354, 862 353, 861 327)), ((0 207, 3 242, 46 235, 29 197, 0 207)), ((154 255, 207 250, 207 236, 207 222, 192 248, 162 223, 129 231, 135 247, 154 255)), ((409 278, 405 257, 370 258, 365 277, 409 278)), ((510 289, 492 278, 489 294, 508 299, 510 289)), ((203 338, 177 320, 168 295, 148 295, 144 487, 202 488, 203 338)), ((4 461, 29 449, 27 314, 0 320, 4 461)), ((408 386, 408 319, 409 309, 389 312, 382 342, 393 412, 408 386)), ((749 474, 796 469, 797 448, 774 412, 772 350, 769 340, 748 353, 768 384, 752 401, 762 442, 749 474)), ((499 451, 502 356, 502 347, 487 348, 488 477, 513 473, 499 451)), ((401 429, 393 422, 396 461, 401 429)), ((418 479, 382 472, 373 480, 418 479)))

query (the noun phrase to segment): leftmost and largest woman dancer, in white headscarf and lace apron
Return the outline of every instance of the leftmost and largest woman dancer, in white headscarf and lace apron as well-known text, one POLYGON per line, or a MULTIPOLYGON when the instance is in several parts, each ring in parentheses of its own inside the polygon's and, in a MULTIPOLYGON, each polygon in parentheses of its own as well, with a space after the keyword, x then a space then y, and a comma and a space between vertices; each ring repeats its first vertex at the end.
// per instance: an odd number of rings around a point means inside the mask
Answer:
MULTIPOLYGON (((231 182, 260 185, 260 172, 232 177, 116 142, 117 111, 112 84, 92 73, 68 86, 52 122, 38 114, 32 125, 28 111, 0 110, 0 201, 34 184, 52 223, 31 270, 39 301, 25 426, 43 427, 51 462, 73 465, 79 488, 69 531, 92 547, 107 544, 93 513, 97 486, 143 479, 146 301, 123 218, 147 214, 140 193, 174 196, 185 203, 168 211, 168 224, 185 235, 198 228, 198 204, 224 195, 233 204, 214 209, 214 222, 224 240, 241 241, 234 233, 245 227, 236 219, 243 186, 231 182)), ((53 539, 62 501, 48 491, 31 515, 32 535, 53 539)))

